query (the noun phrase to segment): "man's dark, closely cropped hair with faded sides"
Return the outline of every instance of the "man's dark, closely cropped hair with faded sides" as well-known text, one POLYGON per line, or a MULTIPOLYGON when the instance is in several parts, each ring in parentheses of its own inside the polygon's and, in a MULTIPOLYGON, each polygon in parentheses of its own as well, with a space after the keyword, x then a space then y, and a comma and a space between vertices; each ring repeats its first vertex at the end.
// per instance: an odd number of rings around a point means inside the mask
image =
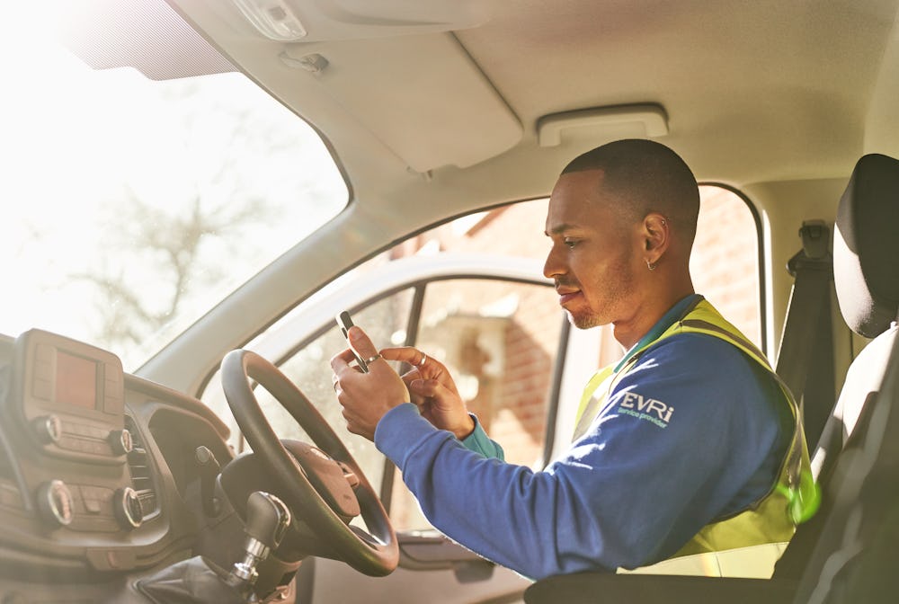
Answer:
POLYGON ((601 188, 619 196, 622 217, 639 221, 658 212, 692 244, 699 216, 699 187, 690 166, 671 148, 643 138, 628 138, 575 157, 563 174, 601 170, 601 188))

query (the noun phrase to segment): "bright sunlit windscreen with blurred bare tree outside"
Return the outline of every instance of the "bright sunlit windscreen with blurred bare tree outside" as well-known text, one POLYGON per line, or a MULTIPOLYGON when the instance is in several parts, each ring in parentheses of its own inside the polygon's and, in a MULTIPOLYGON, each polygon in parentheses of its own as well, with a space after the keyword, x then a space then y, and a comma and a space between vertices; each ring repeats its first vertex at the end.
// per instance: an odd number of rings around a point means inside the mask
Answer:
POLYGON ((13 3, 0 25, 0 333, 61 333, 133 370, 348 191, 316 132, 220 55, 224 73, 183 76, 173 58, 150 75, 177 77, 150 79, 85 63, 93 33, 77 56, 45 35, 81 27, 59 22, 80 4, 13 3))

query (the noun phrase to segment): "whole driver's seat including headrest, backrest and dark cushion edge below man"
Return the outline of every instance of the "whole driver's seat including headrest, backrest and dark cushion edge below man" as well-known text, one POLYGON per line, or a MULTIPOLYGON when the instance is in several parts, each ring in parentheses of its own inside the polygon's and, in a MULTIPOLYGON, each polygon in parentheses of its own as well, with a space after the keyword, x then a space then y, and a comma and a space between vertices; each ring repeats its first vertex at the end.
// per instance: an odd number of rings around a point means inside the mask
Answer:
MULTIPOLYGON (((702 600, 788 604, 821 596, 826 589, 821 587, 822 577, 826 574, 828 581, 833 579, 827 574, 836 564, 833 553, 841 552, 840 560, 859 555, 858 551, 847 550, 857 544, 846 545, 846 526, 853 513, 853 502, 859 497, 859 463, 871 463, 870 457, 877 457, 869 451, 867 457, 859 452, 870 449, 872 433, 880 433, 872 427, 883 428, 879 422, 887 416, 888 405, 895 402, 899 406, 895 392, 899 387, 893 385, 899 382, 899 251, 894 244, 897 225, 899 161, 886 155, 865 155, 856 164, 837 210, 833 278, 846 324, 873 340, 852 362, 814 450, 813 469, 823 487, 822 508, 814 519, 797 529, 771 579, 577 573, 534 583, 525 591, 527 604, 702 600), (890 377, 891 367, 891 390, 886 396, 878 396, 885 378, 890 377)), ((894 416, 892 419, 899 426, 899 409, 894 416)), ((899 458, 899 450, 896 457, 899 458)), ((897 482, 893 478, 888 484, 897 482)), ((874 488, 879 497, 866 520, 876 523, 878 511, 883 514, 892 509, 889 518, 895 520, 899 529, 895 506, 883 504, 884 497, 894 494, 899 501, 899 493, 874 488)), ((859 572, 851 576, 867 577, 859 572)), ((890 597, 895 598, 895 591, 890 597)))

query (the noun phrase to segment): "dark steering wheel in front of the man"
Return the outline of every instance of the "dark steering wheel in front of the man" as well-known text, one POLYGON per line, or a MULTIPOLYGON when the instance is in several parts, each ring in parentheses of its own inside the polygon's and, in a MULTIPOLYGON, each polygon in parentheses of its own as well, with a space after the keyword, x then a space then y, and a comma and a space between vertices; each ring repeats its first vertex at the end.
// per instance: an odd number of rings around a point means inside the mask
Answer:
POLYGON ((399 547, 387 512, 359 464, 306 395, 268 360, 245 350, 228 352, 222 360, 222 386, 237 424, 277 481, 278 494, 294 518, 313 528, 334 557, 360 573, 393 572, 399 547), (326 455, 311 447, 307 450, 312 455, 301 456, 285 449, 263 415, 251 379, 275 397, 326 455), (348 524, 360 512, 370 533, 348 524))

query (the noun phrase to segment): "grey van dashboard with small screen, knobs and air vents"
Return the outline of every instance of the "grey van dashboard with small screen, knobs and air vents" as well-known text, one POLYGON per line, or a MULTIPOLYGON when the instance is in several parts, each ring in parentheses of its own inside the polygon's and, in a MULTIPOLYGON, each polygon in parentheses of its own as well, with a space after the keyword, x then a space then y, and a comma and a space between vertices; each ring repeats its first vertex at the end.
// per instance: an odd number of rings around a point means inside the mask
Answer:
POLYGON ((227 436, 200 401, 109 351, 40 330, 0 338, 0 600, 117 600, 193 555, 233 562, 243 525, 216 482, 235 457, 227 436))

